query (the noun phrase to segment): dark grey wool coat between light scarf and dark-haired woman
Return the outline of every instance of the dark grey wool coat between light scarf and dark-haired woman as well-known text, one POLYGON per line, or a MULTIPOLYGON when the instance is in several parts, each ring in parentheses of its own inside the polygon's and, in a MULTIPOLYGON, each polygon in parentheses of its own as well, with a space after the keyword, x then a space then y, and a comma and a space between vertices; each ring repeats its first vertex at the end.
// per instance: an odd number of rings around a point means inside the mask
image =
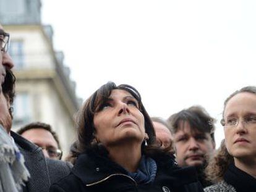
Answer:
POLYGON ((43 156, 41 148, 11 131, 15 144, 22 152, 30 178, 23 188, 28 192, 48 192, 51 183, 70 173, 72 165, 68 162, 48 159, 43 156))

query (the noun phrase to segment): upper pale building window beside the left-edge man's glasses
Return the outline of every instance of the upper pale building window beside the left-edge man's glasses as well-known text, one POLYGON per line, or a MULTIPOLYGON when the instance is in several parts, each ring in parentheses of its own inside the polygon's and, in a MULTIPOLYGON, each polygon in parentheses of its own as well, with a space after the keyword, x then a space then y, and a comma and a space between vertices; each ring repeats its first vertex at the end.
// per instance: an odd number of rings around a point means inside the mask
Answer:
POLYGON ((9 53, 16 69, 22 69, 24 64, 23 41, 11 40, 9 53))

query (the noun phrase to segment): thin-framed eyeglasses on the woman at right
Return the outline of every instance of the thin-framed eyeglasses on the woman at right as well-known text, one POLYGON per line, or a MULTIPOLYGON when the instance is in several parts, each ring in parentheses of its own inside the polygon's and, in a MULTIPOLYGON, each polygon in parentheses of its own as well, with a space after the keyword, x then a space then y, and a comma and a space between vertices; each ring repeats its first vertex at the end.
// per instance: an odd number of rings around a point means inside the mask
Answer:
MULTIPOLYGON (((221 125, 223 125, 223 127, 236 127, 239 122, 240 122, 240 120, 236 117, 228 117, 226 120, 221 119, 221 125)), ((255 125, 256 124, 256 116, 249 115, 247 117, 244 117, 242 119, 241 123, 246 127, 255 125)))

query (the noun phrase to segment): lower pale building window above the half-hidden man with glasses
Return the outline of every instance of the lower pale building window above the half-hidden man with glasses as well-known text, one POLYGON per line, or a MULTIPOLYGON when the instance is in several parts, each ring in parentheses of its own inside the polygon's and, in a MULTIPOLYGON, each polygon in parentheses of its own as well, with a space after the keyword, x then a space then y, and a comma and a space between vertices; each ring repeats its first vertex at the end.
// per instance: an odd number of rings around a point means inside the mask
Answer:
POLYGON ((31 106, 28 93, 18 93, 14 99, 14 123, 23 124, 30 122, 31 106))

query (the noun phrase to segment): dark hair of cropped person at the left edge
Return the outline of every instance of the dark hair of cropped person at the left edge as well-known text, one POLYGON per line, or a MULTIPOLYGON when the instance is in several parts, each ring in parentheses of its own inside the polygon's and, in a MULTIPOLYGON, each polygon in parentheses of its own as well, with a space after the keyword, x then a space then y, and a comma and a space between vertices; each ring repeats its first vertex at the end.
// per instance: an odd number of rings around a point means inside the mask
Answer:
MULTIPOLYGON (((10 105, 14 102, 15 96, 15 81, 16 78, 14 73, 10 69, 6 69, 6 77, 4 78, 4 83, 2 84, 2 93, 9 99, 10 105)), ((10 107, 9 112, 12 117, 12 107, 10 107)))

